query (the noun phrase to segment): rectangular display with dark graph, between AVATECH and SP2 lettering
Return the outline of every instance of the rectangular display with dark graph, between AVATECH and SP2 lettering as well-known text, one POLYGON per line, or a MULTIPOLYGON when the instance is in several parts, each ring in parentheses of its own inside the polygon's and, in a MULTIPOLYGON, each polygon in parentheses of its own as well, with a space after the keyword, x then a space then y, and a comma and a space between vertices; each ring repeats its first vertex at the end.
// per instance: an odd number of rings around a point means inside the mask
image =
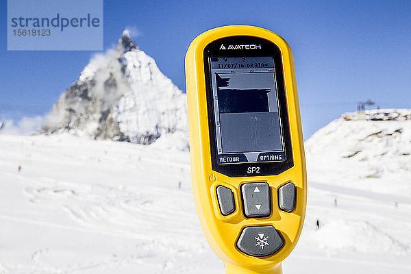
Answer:
POLYGON ((210 58, 216 162, 286 160, 273 57, 210 58))

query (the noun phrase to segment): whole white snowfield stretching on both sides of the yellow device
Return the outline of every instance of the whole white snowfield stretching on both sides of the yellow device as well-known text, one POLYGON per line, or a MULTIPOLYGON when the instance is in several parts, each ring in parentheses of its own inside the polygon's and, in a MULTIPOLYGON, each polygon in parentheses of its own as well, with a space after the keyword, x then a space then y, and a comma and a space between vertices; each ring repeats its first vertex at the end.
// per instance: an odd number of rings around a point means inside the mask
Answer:
MULTIPOLYGON (((1 274, 223 273, 195 213, 188 153, 168 141, 0 135, 0 151, 1 274)), ((363 177, 336 185, 345 170, 323 169, 328 180, 312 171, 284 273, 410 273, 407 194, 361 190, 363 177)))

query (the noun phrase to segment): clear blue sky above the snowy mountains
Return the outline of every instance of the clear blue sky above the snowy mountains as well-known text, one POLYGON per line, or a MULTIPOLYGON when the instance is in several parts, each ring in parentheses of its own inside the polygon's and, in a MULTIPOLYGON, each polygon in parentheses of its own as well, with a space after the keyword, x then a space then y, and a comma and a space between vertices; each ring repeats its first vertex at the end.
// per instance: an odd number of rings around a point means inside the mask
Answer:
MULTIPOLYGON (((7 51, 1 1, 0 119, 47 114, 98 51, 7 51)), ((126 27, 185 90, 184 55, 201 32, 257 25, 290 44, 306 136, 357 101, 411 108, 411 1, 104 1, 104 49, 126 27)), ((81 42, 81 41, 75 41, 81 42)))

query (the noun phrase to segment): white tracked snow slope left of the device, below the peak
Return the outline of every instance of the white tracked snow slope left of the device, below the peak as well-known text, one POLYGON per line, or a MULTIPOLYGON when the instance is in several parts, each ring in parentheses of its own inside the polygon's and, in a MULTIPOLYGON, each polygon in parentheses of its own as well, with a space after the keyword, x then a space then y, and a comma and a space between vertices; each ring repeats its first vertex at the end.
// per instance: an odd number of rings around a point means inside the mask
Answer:
POLYGON ((1 135, 0 151, 0 273, 221 268, 186 152, 70 135, 1 135))

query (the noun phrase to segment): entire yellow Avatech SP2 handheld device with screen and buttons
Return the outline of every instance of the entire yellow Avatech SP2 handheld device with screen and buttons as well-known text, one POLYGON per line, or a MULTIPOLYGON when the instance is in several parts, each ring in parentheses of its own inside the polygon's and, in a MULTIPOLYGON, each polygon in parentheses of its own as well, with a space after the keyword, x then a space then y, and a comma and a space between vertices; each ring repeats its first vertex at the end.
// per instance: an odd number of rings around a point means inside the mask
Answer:
POLYGON ((282 273, 306 212, 306 162, 287 42, 211 29, 186 55, 192 190, 226 273, 282 273))

